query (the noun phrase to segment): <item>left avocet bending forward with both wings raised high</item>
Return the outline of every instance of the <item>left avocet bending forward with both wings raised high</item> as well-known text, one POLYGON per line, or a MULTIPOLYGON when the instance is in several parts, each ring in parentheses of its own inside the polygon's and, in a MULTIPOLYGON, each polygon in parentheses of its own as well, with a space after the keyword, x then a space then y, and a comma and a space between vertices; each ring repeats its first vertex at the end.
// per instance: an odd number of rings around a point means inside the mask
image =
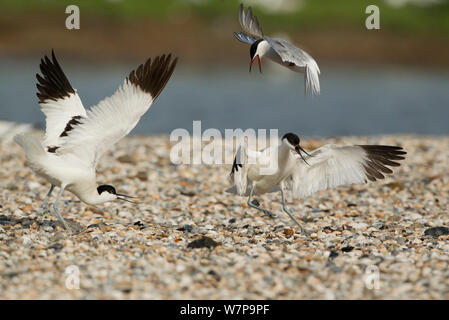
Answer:
POLYGON ((129 76, 118 90, 96 106, 85 110, 81 100, 62 71, 55 54, 41 60, 37 74, 37 96, 46 116, 45 137, 41 143, 27 135, 14 141, 25 151, 31 169, 51 183, 43 211, 55 186, 60 191, 53 204, 64 227, 58 203, 64 190, 81 201, 96 205, 116 199, 135 198, 117 193, 111 185, 96 185, 95 168, 100 157, 126 136, 159 96, 175 69, 177 58, 162 55, 148 59, 129 76))

